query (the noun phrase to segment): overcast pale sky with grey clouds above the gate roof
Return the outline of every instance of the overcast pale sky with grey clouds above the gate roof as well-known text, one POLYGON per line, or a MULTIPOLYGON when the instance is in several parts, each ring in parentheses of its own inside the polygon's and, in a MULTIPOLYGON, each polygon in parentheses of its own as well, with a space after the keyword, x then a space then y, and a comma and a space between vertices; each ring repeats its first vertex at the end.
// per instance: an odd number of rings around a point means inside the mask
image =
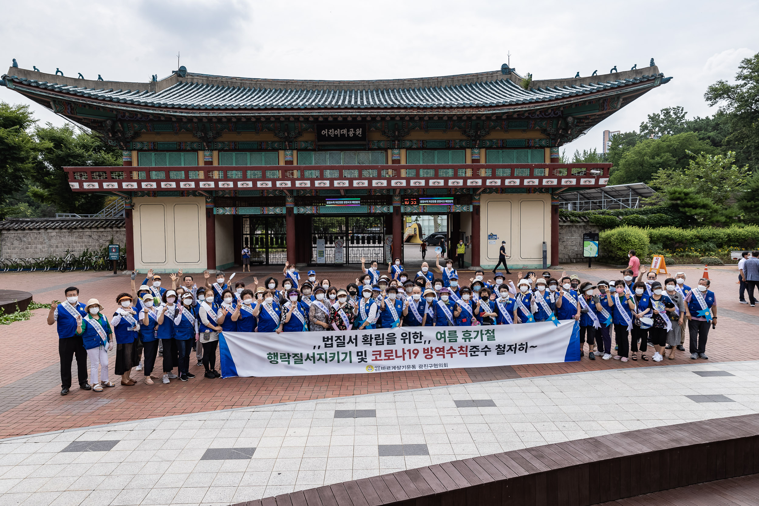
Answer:
MULTIPOLYGON (((16 58, 67 76, 146 82, 177 68, 226 76, 388 79, 493 71, 534 79, 606 74, 654 58, 674 79, 565 146, 600 151, 603 130, 632 130, 682 105, 711 115, 704 91, 759 51, 759 2, 52 2, 3 0, 0 68, 16 58)), ((26 103, 0 88, 0 101, 26 103)), ((31 103, 31 102, 29 102, 31 103)), ((64 122, 33 105, 42 121, 64 122)))

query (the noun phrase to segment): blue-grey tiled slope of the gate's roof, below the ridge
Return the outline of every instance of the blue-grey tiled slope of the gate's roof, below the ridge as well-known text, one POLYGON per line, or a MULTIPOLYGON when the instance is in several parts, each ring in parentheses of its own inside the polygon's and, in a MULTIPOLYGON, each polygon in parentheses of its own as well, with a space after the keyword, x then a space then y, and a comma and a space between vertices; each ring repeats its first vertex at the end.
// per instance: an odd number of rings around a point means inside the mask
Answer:
MULTIPOLYGON (((626 73, 625 73, 626 74, 626 73)), ((4 75, 5 80, 12 80, 26 86, 58 93, 70 93, 90 99, 106 102, 179 109, 288 109, 288 108, 443 108, 443 107, 489 107, 497 105, 526 104, 546 102, 572 96, 588 95, 603 90, 631 86, 646 81, 660 79, 666 83, 671 77, 663 74, 620 76, 616 80, 588 83, 566 83, 554 86, 538 86, 524 90, 512 80, 493 78, 474 80, 468 83, 455 83, 443 86, 407 86, 387 87, 372 86, 371 82, 362 82, 361 86, 350 87, 350 82, 343 86, 320 86, 318 81, 288 81, 286 86, 239 86, 228 83, 213 83, 204 79, 202 74, 187 74, 197 77, 198 81, 178 81, 163 90, 150 91, 121 88, 96 88, 94 86, 74 86, 50 83, 27 77, 4 75), (200 82, 200 80, 210 82, 200 82)), ((260 84, 260 81, 258 82, 260 84)), ((284 81, 280 82, 285 84, 284 81)), ((402 83, 399 81, 398 83, 402 83)), ((539 81, 537 83, 540 83, 539 81)), ((118 83, 109 83, 117 84, 118 83)), ((132 83, 134 84, 134 83, 132 83)), ((144 83, 150 88, 149 83, 144 83)), ((269 83, 266 83, 269 84, 269 83)), ((106 84, 107 86, 107 84, 106 84)), ((154 86, 153 86, 154 87, 154 86)))

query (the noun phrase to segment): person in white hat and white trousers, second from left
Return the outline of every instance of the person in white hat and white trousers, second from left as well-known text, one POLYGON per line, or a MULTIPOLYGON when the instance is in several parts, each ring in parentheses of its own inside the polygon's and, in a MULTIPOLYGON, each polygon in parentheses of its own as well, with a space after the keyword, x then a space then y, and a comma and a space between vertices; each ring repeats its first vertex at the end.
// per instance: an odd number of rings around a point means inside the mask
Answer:
POLYGON ((113 348, 112 327, 106 315, 102 314, 103 306, 97 299, 87 300, 84 310, 87 316, 77 319, 77 335, 81 336, 83 347, 90 357, 90 382, 93 391, 102 391, 103 387, 115 387, 108 379, 108 352, 113 348), (97 367, 100 366, 100 381, 97 380, 97 367))

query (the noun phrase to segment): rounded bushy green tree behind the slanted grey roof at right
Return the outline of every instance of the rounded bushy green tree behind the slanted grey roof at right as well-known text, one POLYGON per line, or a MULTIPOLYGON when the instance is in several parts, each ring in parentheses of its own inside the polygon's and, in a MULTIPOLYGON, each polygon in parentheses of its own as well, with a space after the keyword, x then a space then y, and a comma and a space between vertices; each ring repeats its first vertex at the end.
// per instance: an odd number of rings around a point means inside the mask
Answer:
POLYGON ((715 151, 710 143, 699 140, 694 132, 641 140, 628 149, 612 168, 609 184, 647 183, 660 168, 687 167, 690 161, 688 152, 711 154, 715 151))

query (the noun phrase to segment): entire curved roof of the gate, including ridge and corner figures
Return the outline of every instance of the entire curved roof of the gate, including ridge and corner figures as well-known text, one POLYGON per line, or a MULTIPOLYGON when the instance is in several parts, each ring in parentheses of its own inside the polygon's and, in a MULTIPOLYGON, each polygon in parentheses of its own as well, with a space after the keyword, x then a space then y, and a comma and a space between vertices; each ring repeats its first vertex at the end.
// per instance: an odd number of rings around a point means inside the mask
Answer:
POLYGON ((666 83, 656 66, 592 77, 534 80, 528 90, 516 74, 500 71, 399 80, 263 80, 191 72, 160 81, 83 80, 10 68, 2 84, 40 99, 73 99, 109 108, 176 115, 374 112, 508 113, 644 93, 666 83))

